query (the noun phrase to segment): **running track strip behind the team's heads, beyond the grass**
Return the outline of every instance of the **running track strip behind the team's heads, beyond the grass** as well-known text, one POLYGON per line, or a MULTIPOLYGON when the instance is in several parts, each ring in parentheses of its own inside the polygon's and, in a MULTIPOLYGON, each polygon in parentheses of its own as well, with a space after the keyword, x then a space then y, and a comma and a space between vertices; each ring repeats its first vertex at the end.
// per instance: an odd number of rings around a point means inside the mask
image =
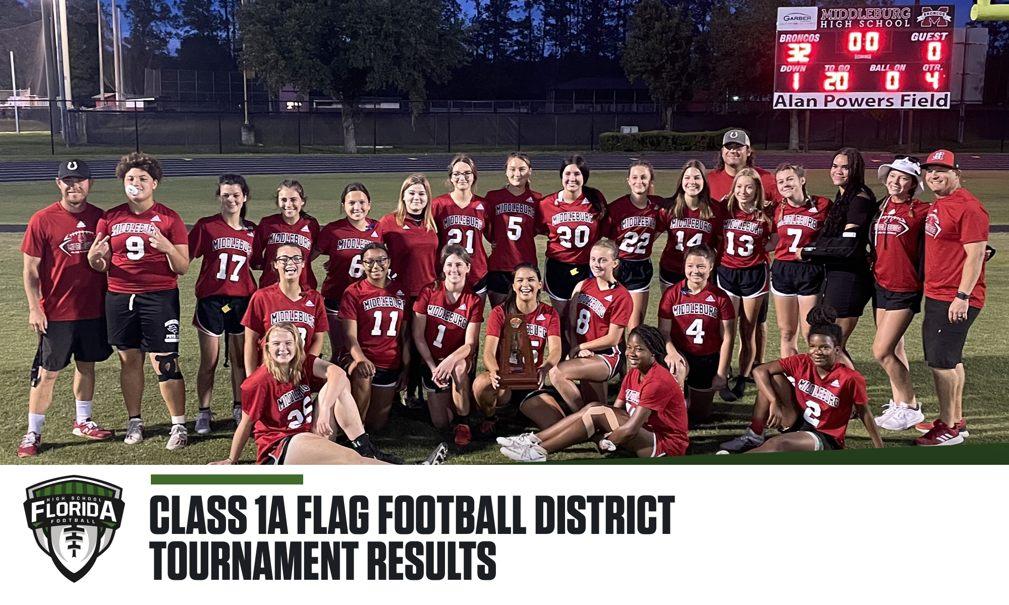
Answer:
MULTIPOLYGON (((869 165, 879 165, 893 158, 890 153, 865 153, 869 165)), ((621 170, 627 168, 632 159, 646 159, 657 169, 679 169, 693 157, 710 161, 714 151, 701 153, 631 154, 593 153, 588 157, 589 165, 596 170, 621 170)), ((561 162, 560 154, 544 154, 533 157, 536 166, 553 167, 561 162)), ((833 155, 825 152, 808 154, 784 153, 780 151, 758 151, 756 163, 772 170, 785 159, 798 160, 806 168, 829 168, 833 155)), ((88 159, 95 178, 114 178, 116 160, 88 159)), ((216 176, 222 172, 240 174, 326 174, 347 172, 441 172, 451 161, 451 154, 437 155, 291 155, 281 157, 196 157, 192 159, 172 157, 161 160, 166 176, 216 176)), ((476 165, 484 170, 499 169, 504 154, 477 154, 473 156, 476 165)), ((960 164, 965 170, 1007 170, 1009 154, 987 153, 980 155, 960 154, 960 164)), ((0 162, 0 183, 26 183, 50 180, 55 177, 59 159, 40 161, 0 162)))

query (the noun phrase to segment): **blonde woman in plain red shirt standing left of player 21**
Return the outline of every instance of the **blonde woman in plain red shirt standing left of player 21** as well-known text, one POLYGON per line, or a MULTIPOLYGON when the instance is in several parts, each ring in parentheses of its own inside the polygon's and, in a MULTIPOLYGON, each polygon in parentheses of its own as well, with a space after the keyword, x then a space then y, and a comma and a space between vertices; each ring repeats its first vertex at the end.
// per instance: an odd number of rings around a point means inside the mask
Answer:
MULTIPOLYGON (((396 211, 381 218, 378 226, 388 248, 388 276, 407 294, 407 313, 414 314, 414 301, 421 289, 435 280, 438 266, 438 227, 431 214, 431 184, 427 176, 414 173, 400 188, 396 211)), ((421 356, 410 339, 410 382, 407 385, 407 406, 421 406, 421 356), (416 396, 415 396, 416 393, 416 396)))

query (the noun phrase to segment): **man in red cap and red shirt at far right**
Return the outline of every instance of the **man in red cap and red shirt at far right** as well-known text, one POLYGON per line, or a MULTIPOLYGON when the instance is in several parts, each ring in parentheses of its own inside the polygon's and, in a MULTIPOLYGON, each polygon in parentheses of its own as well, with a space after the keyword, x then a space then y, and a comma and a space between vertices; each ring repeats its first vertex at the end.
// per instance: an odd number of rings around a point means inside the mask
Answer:
POLYGON ((988 211, 961 185, 952 152, 933 151, 921 165, 935 194, 925 218, 925 319, 921 341, 932 369, 939 417, 918 425, 919 446, 964 443, 964 343, 985 304, 988 211))

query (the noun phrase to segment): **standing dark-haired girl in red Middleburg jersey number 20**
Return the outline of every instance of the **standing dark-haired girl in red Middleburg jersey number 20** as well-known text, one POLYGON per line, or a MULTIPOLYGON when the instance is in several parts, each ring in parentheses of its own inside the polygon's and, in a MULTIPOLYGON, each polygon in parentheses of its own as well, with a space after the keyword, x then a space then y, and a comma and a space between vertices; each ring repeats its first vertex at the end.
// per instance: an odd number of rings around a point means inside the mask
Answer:
MULTIPOLYGON (((589 242, 601 235, 606 199, 598 190, 587 187, 589 169, 581 155, 565 157, 559 172, 562 189, 540 201, 537 233, 547 236, 544 289, 558 315, 567 318, 575 286, 589 276, 589 242)), ((561 343, 563 358, 571 346, 566 330, 561 343)))

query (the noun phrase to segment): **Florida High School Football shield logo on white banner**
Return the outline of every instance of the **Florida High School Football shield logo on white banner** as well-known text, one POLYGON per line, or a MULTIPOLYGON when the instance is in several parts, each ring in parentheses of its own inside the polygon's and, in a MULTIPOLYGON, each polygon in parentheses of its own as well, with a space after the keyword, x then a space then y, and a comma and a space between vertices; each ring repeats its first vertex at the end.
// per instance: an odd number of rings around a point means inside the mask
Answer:
POLYGON ((122 489, 71 476, 36 483, 27 492, 24 516, 38 548, 68 580, 84 578, 119 528, 122 489))

